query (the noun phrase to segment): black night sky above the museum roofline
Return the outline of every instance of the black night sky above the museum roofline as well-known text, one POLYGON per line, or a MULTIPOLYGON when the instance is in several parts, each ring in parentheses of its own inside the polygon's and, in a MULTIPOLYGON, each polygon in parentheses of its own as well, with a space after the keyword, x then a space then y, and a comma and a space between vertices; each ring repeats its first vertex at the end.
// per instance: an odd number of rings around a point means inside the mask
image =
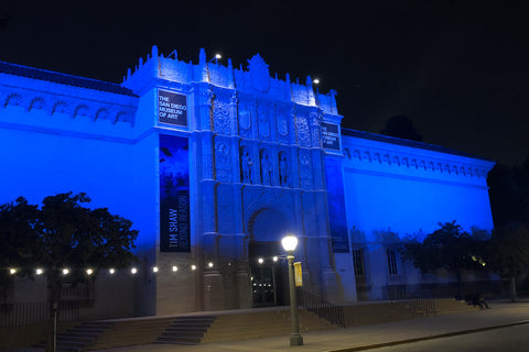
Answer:
POLYGON ((259 53, 337 90, 343 127, 406 114, 424 142, 529 156, 527 1, 0 1, 0 61, 121 82, 152 45, 179 58, 259 53))

